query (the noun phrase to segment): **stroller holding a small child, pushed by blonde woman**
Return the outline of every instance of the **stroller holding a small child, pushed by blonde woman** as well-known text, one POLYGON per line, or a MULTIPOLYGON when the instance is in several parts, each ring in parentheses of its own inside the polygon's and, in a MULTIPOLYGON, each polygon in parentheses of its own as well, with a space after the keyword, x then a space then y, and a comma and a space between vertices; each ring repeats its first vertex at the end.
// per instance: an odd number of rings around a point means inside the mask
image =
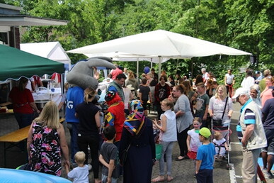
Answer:
MULTIPOLYGON (((222 157, 221 160, 227 161, 227 170, 231 170, 230 166, 230 157, 229 157, 229 151, 231 150, 230 147, 230 135, 232 134, 232 131, 230 130, 230 123, 228 126, 214 126, 213 121, 211 121, 211 132, 212 132, 212 142, 214 138, 215 132, 219 132, 222 134, 222 137, 226 140, 227 146, 229 150, 226 150, 224 153, 224 156, 222 157)), ((224 148, 224 145, 215 145, 215 147, 219 148, 224 148)))

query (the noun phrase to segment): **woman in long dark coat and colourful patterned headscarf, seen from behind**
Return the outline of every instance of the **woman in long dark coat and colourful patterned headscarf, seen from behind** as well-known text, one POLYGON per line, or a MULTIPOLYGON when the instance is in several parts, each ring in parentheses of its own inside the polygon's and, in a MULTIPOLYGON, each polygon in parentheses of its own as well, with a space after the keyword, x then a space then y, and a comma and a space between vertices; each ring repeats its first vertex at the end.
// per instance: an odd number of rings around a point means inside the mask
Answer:
POLYGON ((139 100, 130 103, 130 113, 122 128, 119 157, 128 148, 123 163, 124 182, 151 182, 152 165, 155 160, 155 143, 152 121, 144 116, 139 100))

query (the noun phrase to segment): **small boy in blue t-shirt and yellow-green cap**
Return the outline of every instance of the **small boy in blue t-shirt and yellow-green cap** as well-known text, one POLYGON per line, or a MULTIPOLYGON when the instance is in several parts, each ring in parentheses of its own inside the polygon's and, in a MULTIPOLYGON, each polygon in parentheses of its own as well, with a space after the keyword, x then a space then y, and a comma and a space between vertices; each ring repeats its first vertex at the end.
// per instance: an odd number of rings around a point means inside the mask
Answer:
POLYGON ((213 183, 213 165, 215 161, 215 145, 210 143, 211 132, 208 128, 202 128, 199 132, 199 140, 202 145, 198 148, 195 168, 198 183, 213 183))

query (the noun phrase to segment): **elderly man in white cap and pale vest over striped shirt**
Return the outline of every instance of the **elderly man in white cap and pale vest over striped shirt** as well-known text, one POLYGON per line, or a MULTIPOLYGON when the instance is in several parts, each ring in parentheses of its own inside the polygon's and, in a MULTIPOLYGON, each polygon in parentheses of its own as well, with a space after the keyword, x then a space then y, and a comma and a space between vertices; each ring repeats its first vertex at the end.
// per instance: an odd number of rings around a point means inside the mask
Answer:
POLYGON ((249 90, 239 88, 232 99, 241 104, 237 131, 241 131, 243 146, 243 163, 241 174, 243 182, 257 182, 257 161, 261 148, 267 145, 266 134, 261 120, 261 110, 249 96, 249 90))

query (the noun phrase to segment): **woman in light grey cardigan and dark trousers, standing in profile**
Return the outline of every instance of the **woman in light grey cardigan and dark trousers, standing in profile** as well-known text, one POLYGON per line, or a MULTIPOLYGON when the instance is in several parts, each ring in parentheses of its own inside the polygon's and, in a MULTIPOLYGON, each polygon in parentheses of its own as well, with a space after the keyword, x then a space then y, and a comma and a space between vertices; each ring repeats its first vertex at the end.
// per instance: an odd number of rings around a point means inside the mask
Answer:
POLYGON ((174 112, 176 113, 177 138, 180 147, 180 156, 176 158, 176 161, 181 161, 188 159, 186 139, 188 138, 190 125, 193 122, 193 114, 191 113, 190 102, 188 96, 185 95, 185 87, 183 85, 173 87, 172 94, 177 98, 174 112))

